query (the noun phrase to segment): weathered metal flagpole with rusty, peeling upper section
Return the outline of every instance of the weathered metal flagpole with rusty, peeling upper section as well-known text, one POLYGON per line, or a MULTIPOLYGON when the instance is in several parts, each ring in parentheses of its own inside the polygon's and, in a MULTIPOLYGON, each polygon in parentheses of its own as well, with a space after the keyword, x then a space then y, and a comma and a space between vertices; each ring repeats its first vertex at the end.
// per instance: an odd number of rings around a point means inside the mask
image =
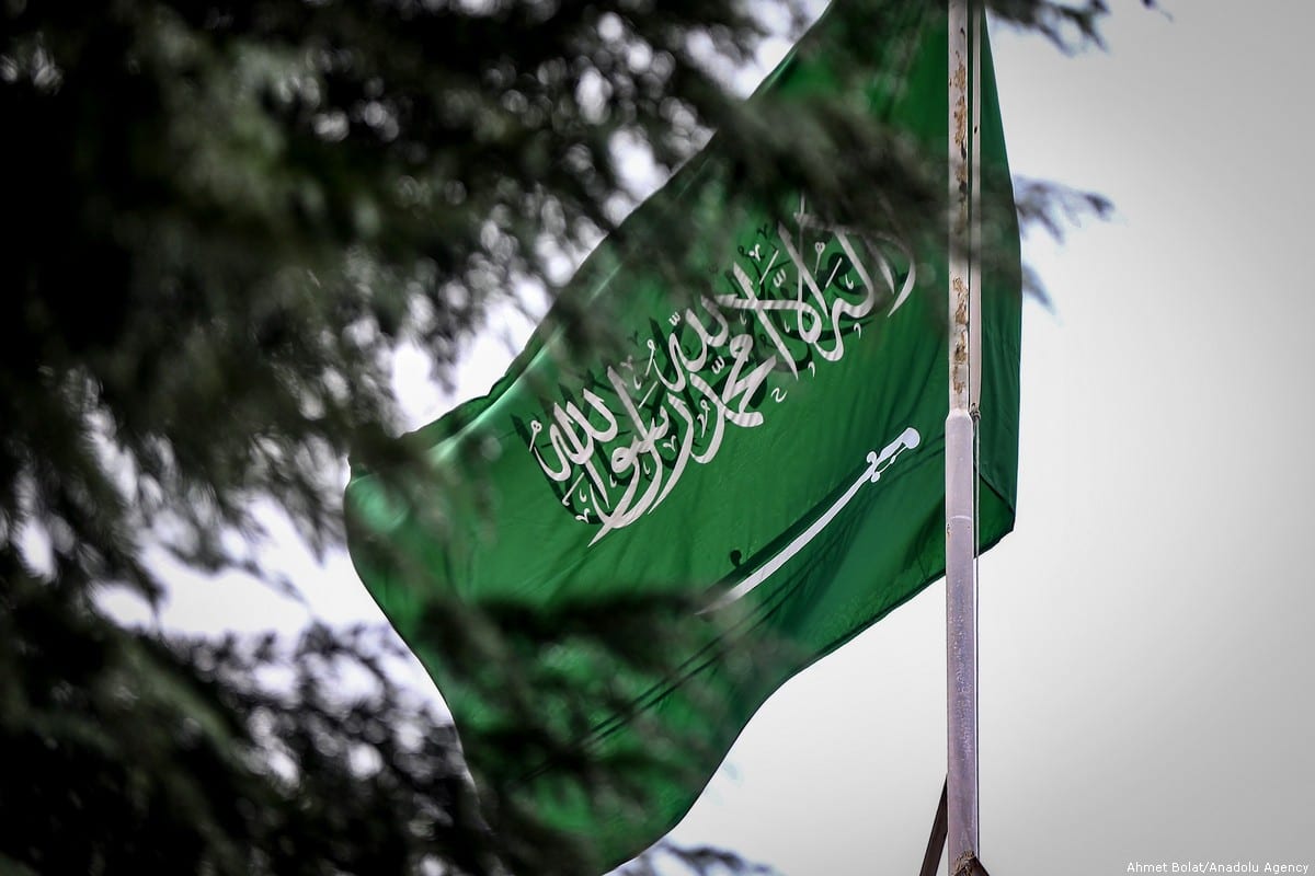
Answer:
MULTIPOLYGON (((949 3, 949 415, 945 418, 947 858, 952 875, 977 859, 977 570, 969 168, 969 0, 949 3)), ((973 131, 976 133, 976 131, 973 131)), ((973 872, 968 869, 967 872, 973 872)))

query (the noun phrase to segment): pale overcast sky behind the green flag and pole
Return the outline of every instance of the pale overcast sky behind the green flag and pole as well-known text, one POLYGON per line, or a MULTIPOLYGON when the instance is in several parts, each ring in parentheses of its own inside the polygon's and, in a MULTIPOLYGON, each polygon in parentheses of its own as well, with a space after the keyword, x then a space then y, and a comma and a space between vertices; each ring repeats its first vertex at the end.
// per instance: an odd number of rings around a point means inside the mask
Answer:
MULTIPOLYGON (((1315 865, 1315 5, 1112 5, 1109 54, 993 30, 1015 175, 1118 217, 1024 242, 1053 310, 1024 310, 1018 528, 982 561, 982 860, 1315 865)), ((280 562, 314 615, 377 617, 342 557, 280 562)), ((938 584, 788 683, 675 838, 790 876, 917 872, 944 775, 943 612, 938 584)), ((164 623, 305 616, 231 579, 179 588, 164 623)))

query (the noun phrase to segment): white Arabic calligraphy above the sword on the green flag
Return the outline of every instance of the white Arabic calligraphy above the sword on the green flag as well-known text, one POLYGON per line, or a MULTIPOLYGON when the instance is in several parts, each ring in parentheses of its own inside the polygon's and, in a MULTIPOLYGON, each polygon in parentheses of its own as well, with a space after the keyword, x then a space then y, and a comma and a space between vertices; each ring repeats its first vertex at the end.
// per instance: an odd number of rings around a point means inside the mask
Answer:
POLYGON ((590 545, 659 507, 690 462, 711 462, 727 424, 756 428, 764 406, 785 403, 789 391, 767 385, 772 372, 798 380, 806 366, 815 377, 817 361, 844 356, 847 328, 851 343, 863 336, 878 299, 892 299, 886 317, 907 299, 915 269, 899 240, 852 235, 802 210, 796 218, 798 247, 784 225, 760 227, 723 276, 727 292, 654 322, 642 372, 631 353, 583 389, 580 403, 554 403, 546 428, 530 422, 529 449, 562 504, 597 527, 590 545), (800 252, 805 234, 819 238, 813 267, 800 252), (851 238, 873 260, 880 292, 851 238), (902 277, 886 250, 907 264, 902 277))

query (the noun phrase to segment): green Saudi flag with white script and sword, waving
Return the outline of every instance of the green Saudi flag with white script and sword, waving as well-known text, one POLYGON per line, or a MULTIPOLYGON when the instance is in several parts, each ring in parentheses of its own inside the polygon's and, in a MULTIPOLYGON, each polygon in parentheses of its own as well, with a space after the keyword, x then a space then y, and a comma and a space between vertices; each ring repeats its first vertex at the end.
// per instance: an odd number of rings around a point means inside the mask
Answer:
MULTIPOLYGON (((901 4, 871 70, 843 76, 827 13, 751 100, 859 81, 948 179, 932 7, 901 4)), ((1014 519, 1020 297, 989 53, 981 71, 981 209, 1003 229, 981 284, 989 546, 1014 519)), ((947 235, 806 193, 732 209, 717 150, 589 256, 489 395, 400 439, 425 477, 347 487, 360 578, 443 693, 481 820, 525 860, 554 831, 584 841, 580 872, 643 851, 777 687, 944 573, 947 235), (654 257, 655 215, 694 223, 693 271, 654 257), (569 343, 583 311, 619 347, 569 343)))

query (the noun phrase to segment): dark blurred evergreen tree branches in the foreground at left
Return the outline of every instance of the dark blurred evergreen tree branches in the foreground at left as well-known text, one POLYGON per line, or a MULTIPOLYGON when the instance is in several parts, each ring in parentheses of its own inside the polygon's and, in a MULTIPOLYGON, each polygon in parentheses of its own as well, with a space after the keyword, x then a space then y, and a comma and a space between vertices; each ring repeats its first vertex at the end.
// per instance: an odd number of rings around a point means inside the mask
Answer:
MULTIPOLYGON (((551 292, 634 202, 627 156, 665 172, 718 130, 746 189, 939 222, 939 179, 855 108, 781 126, 727 93, 806 5, 4 1, 0 869, 586 872, 588 850, 477 814, 451 729, 379 668, 389 640, 188 641, 95 591, 156 599, 151 544, 249 566, 258 496, 335 544, 343 456, 409 462, 397 345, 442 378, 490 306, 551 292), (339 693, 346 666, 367 693, 339 693)), ((994 5, 1057 39, 1103 13, 994 5)), ((846 51, 878 7, 846 9, 846 51)), ((663 231, 668 252, 692 234, 663 231)), ((576 317, 579 340, 605 328, 576 317)))

